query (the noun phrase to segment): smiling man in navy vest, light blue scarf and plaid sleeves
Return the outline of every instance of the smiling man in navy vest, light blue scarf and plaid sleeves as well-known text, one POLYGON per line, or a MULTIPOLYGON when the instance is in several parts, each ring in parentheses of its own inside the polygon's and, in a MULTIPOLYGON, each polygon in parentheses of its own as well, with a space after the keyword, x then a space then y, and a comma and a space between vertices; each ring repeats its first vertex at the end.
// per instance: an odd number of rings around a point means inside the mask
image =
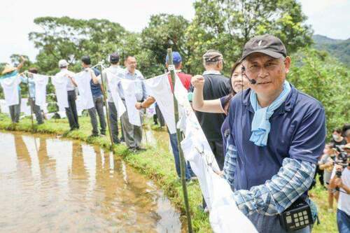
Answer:
POLYGON ((279 216, 296 201, 312 218, 298 219, 295 232, 311 232, 317 211, 307 191, 325 146, 324 108, 286 81, 291 60, 279 38, 251 38, 241 61, 249 88, 230 104, 223 177, 258 232, 287 232, 279 216))

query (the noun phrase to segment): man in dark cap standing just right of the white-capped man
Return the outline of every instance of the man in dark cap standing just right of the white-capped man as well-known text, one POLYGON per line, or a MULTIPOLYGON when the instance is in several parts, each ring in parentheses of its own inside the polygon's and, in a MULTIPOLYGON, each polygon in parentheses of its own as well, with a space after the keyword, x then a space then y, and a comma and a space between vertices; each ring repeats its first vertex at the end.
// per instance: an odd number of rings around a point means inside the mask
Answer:
MULTIPOLYGON (((83 56, 81 58, 81 66, 85 71, 90 71, 91 59, 89 56, 83 56)), ((104 119, 104 95, 102 93, 102 86, 99 84, 97 76, 100 75, 100 72, 96 68, 92 68, 92 79, 90 80, 90 88, 92 93, 92 99, 94 101, 94 108, 90 108, 89 115, 92 125, 92 135, 99 136, 99 129, 97 125, 97 114, 99 115, 99 126, 101 127, 100 132, 102 136, 106 136, 106 120, 104 119)))

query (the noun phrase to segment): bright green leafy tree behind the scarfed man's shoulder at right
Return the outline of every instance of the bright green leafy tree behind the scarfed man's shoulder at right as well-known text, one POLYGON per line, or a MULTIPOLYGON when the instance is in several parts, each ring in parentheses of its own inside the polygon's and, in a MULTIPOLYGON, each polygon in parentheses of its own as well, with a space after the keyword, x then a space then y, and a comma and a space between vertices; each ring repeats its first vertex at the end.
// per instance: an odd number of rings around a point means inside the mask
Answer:
POLYGON ((321 101, 330 136, 333 128, 349 122, 349 69, 327 52, 309 48, 296 52, 292 61, 288 80, 298 90, 321 101))

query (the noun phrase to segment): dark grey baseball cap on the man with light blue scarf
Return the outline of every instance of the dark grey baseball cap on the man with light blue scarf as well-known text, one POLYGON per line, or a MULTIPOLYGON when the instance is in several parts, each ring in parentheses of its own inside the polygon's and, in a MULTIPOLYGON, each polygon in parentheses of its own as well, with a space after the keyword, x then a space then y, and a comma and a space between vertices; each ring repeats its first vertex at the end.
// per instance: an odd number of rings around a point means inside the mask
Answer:
POLYGON ((260 52, 274 58, 287 57, 287 50, 283 42, 276 36, 269 34, 251 38, 244 45, 241 61, 254 52, 260 52))

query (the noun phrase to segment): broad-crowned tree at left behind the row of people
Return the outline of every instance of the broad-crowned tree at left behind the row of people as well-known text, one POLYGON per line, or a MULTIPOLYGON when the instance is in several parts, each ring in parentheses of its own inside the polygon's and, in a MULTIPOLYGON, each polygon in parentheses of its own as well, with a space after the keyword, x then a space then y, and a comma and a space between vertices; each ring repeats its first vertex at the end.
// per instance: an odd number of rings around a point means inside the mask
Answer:
MULTIPOLYGON (((120 48, 129 34, 120 24, 109 20, 76 20, 70 17, 38 17, 34 20, 43 31, 29 33, 39 54, 41 72, 55 73, 59 59, 77 64, 80 57, 90 55, 92 62, 120 48)), ((80 69, 77 64, 75 69, 80 69)))

